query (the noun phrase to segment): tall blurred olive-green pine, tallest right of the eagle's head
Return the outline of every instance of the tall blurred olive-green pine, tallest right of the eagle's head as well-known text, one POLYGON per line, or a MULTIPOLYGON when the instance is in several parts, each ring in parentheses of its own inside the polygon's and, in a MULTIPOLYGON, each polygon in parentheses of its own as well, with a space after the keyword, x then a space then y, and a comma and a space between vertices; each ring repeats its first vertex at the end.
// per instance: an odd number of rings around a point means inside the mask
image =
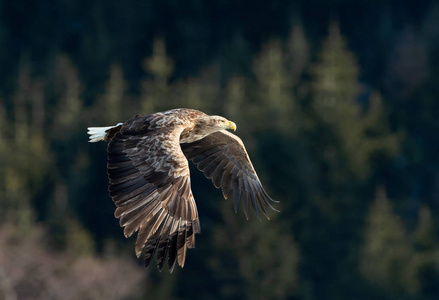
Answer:
MULTIPOLYGON (((358 122, 360 106, 356 102, 359 93, 358 66, 353 53, 346 49, 336 24, 331 24, 318 63, 311 68, 311 73, 312 105, 320 126, 324 127, 322 131, 330 131, 323 132, 328 142, 323 149, 324 160, 332 165, 329 172, 335 177, 340 155, 346 156, 347 165, 352 165, 363 135, 363 127, 358 122), (337 144, 342 147, 343 154, 337 153, 337 144)), ((364 169, 364 165, 352 167, 361 172, 364 169)))

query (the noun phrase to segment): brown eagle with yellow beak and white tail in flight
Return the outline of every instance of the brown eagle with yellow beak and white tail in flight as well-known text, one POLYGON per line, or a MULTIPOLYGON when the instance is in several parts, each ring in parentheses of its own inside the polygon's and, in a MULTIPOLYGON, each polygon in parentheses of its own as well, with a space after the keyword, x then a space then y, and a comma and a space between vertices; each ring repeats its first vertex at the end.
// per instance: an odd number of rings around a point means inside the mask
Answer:
POLYGON ((157 253, 161 271, 168 260, 185 264, 187 248, 200 232, 190 186, 188 160, 196 164, 224 198, 233 194, 234 209, 242 202, 246 218, 251 203, 258 218, 269 219, 270 202, 241 139, 226 129, 236 125, 220 116, 178 108, 109 127, 89 127, 89 142, 109 141, 107 172, 114 213, 125 237, 138 231, 135 251, 148 267, 157 253))

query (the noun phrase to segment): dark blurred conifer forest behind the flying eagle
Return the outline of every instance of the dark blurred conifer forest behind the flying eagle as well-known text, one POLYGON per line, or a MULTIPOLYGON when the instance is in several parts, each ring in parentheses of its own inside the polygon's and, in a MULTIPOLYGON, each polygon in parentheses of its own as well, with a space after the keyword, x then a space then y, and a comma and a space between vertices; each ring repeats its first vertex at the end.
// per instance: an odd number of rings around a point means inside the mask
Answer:
POLYGON ((0 44, 0 299, 439 299, 436 1, 1 1, 0 44), (169 274, 86 127, 176 107, 237 123, 281 213, 192 172, 169 274))

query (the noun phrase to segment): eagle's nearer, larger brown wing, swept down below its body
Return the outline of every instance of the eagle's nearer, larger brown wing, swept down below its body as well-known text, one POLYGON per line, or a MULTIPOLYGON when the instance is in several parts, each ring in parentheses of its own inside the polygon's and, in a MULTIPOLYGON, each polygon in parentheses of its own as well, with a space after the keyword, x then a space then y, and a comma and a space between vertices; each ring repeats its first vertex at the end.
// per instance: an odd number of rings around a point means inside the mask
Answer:
POLYGON ((137 256, 148 267, 157 252, 162 270, 184 265, 200 232, 188 161, 179 146, 181 127, 155 127, 147 117, 125 122, 108 144, 110 195, 126 237, 139 230, 137 256))

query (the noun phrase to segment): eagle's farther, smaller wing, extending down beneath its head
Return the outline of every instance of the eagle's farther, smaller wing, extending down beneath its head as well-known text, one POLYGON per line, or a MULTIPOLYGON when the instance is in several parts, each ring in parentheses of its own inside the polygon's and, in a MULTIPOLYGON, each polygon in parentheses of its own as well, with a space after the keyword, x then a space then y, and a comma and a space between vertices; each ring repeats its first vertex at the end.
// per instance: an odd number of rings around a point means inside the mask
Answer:
POLYGON ((212 180, 216 188, 221 187, 224 198, 227 199, 230 191, 233 191, 235 212, 238 211, 241 199, 247 219, 250 202, 258 218, 261 210, 269 219, 267 206, 276 210, 270 202, 277 201, 265 192, 244 144, 236 135, 222 130, 193 143, 181 144, 181 148, 184 155, 212 180))

